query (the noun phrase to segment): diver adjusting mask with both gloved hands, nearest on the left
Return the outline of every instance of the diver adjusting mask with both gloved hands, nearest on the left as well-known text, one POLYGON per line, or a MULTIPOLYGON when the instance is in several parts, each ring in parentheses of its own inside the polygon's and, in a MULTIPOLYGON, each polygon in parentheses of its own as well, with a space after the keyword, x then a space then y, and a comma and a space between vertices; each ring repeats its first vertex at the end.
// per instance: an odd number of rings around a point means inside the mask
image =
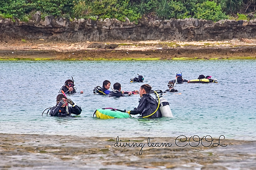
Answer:
POLYGON ((82 112, 81 107, 77 106, 71 99, 68 99, 64 94, 58 94, 56 98, 56 106, 50 110, 51 116, 71 116, 71 114, 80 115, 82 112), (68 106, 71 104, 71 106, 68 106))

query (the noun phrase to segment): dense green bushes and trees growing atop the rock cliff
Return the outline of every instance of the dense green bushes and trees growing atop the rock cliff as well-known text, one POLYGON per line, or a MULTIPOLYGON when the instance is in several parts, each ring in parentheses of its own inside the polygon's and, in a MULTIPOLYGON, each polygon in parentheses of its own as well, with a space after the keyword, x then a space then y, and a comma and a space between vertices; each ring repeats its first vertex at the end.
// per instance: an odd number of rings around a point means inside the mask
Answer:
POLYGON ((36 11, 42 16, 116 18, 138 21, 149 19, 198 18, 212 21, 230 17, 243 18, 241 12, 254 12, 255 0, 0 0, 0 17, 28 21, 36 11), (226 16, 228 14, 229 16, 226 16))

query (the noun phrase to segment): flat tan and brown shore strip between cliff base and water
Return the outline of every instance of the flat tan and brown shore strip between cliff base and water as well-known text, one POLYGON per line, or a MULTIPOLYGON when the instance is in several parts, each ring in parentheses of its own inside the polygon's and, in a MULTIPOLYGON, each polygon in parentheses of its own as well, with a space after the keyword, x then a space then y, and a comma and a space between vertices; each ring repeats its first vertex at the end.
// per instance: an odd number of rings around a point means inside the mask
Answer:
POLYGON ((0 60, 191 60, 256 59, 256 40, 56 42, 8 40, 0 60))

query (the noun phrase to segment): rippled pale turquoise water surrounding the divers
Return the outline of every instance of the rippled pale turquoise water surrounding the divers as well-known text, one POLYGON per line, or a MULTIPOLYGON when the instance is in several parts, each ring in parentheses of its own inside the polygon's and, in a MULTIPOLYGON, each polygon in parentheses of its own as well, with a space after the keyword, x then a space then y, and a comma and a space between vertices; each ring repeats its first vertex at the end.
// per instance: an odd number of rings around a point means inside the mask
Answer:
POLYGON ((0 133, 78 135, 94 137, 177 137, 224 135, 230 139, 255 140, 256 61, 0 61, 0 133), (177 94, 165 94, 173 118, 98 119, 98 108, 133 109, 139 95, 111 98, 94 95, 104 80, 120 82, 122 90, 139 90, 130 83, 138 74, 154 90, 166 90, 179 70, 183 78, 199 74, 217 78, 212 84, 176 84, 177 94), (76 117, 41 116, 56 103, 58 91, 74 78, 77 92, 68 96, 82 113, 76 117))

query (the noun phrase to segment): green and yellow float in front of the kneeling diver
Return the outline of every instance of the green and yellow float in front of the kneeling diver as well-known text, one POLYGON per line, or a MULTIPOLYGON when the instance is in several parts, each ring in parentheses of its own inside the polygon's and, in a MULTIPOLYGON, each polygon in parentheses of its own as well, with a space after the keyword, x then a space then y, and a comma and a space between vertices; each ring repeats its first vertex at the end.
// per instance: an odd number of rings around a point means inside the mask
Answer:
MULTIPOLYGON (((94 111, 96 117, 100 119, 114 119, 114 118, 128 118, 132 117, 126 110, 119 110, 114 108, 102 108, 94 111)), ((93 117, 94 117, 93 114, 93 117)))

